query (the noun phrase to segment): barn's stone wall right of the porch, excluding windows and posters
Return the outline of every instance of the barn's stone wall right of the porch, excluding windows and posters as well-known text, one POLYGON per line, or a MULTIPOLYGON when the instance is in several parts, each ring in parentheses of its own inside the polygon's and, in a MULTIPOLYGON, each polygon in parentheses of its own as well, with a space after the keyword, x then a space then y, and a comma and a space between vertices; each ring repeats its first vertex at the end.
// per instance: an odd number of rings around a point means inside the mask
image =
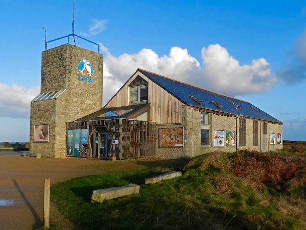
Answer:
MULTIPOLYGON (((179 157, 195 157, 204 153, 213 151, 234 152, 236 150, 255 150, 261 151, 262 148, 262 123, 258 120, 258 146, 253 146, 253 119, 246 119, 246 146, 239 146, 239 117, 228 117, 210 113, 210 145, 201 146, 201 112, 196 111, 190 106, 182 106, 182 124, 174 125, 158 125, 157 133, 157 152, 158 158, 179 158, 179 157), (236 126, 237 119, 237 126, 236 126), (184 127, 184 147, 161 148, 159 147, 159 128, 176 128, 184 127), (235 146, 213 147, 213 131, 224 130, 235 132, 235 146), (237 132, 238 130, 238 132, 237 132), (193 135, 193 141, 192 141, 193 135)), ((266 143, 269 139, 269 133, 282 134, 282 124, 268 123, 268 134, 266 135, 266 143)), ((268 145, 266 151, 281 149, 282 144, 268 145)))

